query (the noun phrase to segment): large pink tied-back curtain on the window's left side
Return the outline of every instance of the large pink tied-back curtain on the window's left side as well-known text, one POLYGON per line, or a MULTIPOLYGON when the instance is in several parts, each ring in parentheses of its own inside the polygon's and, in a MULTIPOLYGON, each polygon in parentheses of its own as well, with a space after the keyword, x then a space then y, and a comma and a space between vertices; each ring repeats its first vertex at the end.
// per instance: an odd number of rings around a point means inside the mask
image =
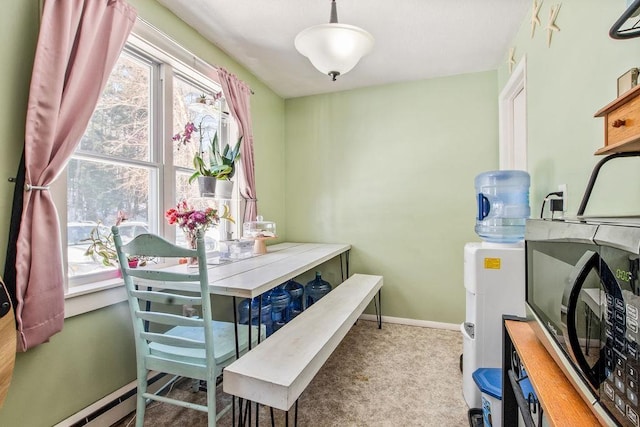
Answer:
POLYGON ((46 0, 25 129, 25 188, 16 242, 21 351, 62 330, 64 275, 47 191, 75 150, 135 23, 124 0, 46 0))

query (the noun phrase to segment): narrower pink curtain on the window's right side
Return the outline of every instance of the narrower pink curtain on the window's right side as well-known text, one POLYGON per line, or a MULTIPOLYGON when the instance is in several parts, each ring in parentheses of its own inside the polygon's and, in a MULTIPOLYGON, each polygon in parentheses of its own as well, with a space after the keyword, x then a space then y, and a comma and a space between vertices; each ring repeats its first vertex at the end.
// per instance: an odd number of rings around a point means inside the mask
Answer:
POLYGON ((258 215, 258 199, 256 195, 256 173, 253 163, 253 131, 251 129, 251 89, 246 83, 230 74, 224 68, 218 68, 218 77, 222 92, 229 103, 231 114, 238 122, 240 134, 243 135, 241 147, 242 171, 245 176, 244 185, 240 186, 240 195, 246 200, 244 222, 255 221, 258 215))

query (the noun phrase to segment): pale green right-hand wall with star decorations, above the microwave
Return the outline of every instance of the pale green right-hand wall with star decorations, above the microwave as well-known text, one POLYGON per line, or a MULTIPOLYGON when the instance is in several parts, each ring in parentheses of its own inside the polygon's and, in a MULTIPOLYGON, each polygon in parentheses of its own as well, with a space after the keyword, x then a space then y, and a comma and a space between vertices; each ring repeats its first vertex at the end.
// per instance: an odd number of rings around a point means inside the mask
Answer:
MULTIPOLYGON (((560 31, 547 47, 544 26, 550 7, 551 3, 543 3, 539 15, 543 28, 538 27, 533 38, 527 17, 511 45, 516 61, 526 56, 527 62, 528 168, 534 215, 539 215, 542 198, 556 191, 558 184, 568 186, 569 214, 577 212, 591 170, 601 159, 593 153, 604 145, 604 119, 593 115, 617 97, 617 78, 640 65, 640 39, 613 40, 608 35, 626 7, 624 0, 563 1, 556 20, 560 31)), ((498 70, 500 87, 508 78, 505 56, 498 70)), ((639 194, 628 185, 621 187, 631 190, 626 195, 612 188, 609 193, 618 199, 639 194)), ((598 200, 594 197, 593 202, 598 200)))

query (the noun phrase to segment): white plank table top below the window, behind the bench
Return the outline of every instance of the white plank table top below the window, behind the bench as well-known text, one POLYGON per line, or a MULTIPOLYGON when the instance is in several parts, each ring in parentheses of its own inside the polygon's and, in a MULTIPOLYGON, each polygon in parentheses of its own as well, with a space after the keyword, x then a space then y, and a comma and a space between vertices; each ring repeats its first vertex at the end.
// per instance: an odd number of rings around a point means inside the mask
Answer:
MULTIPOLYGON (((267 253, 222 265, 210 265, 209 293, 254 298, 289 279, 309 271, 351 249, 340 243, 279 243, 267 246, 267 253)), ((185 264, 166 267, 184 271, 185 264)), ((196 289, 196 283, 165 282, 163 288, 196 289)))

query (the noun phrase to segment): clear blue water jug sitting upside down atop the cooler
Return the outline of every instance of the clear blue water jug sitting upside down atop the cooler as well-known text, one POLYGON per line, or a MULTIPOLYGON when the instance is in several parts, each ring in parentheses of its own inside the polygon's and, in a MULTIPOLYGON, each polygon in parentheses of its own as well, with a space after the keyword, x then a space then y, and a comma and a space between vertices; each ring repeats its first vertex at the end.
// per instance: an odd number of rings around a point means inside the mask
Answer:
POLYGON ((500 170, 476 176, 476 233, 487 242, 515 243, 524 238, 529 208, 529 174, 500 170))

